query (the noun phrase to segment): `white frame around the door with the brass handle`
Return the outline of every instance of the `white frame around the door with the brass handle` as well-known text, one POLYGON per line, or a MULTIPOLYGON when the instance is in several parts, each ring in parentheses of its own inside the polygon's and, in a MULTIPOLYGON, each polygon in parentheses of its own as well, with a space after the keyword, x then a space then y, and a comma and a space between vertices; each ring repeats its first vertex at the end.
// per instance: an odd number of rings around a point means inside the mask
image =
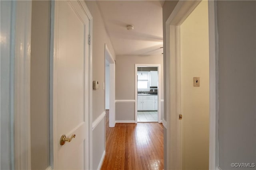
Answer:
MULTIPOLYGON (((88 152, 86 152, 86 169, 92 169, 92 15, 86 6, 86 3, 84 1, 78 1, 82 9, 84 10, 85 14, 88 16, 89 19, 89 35, 90 35, 90 43, 89 44, 89 55, 88 58, 88 116, 86 118, 86 124, 88 124, 87 132, 86 132, 86 138, 89 139, 86 143, 86 149, 88 152)), ((54 88, 54 80, 53 80, 53 74, 54 74, 54 16, 55 16, 55 1, 51 2, 51 26, 50 26, 50 166, 52 169, 55 169, 54 167, 56 165, 57 160, 57 148, 56 143, 54 141, 58 141, 59 139, 56 139, 57 134, 57 115, 54 114, 53 111, 53 103, 54 98, 53 95, 53 88, 54 88)))

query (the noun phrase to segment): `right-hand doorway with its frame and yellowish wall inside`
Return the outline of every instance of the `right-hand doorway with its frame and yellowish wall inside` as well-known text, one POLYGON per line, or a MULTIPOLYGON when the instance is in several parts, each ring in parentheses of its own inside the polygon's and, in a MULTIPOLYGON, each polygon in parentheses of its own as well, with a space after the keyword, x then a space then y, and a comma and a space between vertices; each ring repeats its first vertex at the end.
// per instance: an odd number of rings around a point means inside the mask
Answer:
POLYGON ((166 21, 167 169, 215 168, 211 158, 216 132, 213 7, 212 2, 178 2, 166 21), (177 119, 179 114, 182 119, 177 119), (190 155, 200 161, 190 162, 190 155))

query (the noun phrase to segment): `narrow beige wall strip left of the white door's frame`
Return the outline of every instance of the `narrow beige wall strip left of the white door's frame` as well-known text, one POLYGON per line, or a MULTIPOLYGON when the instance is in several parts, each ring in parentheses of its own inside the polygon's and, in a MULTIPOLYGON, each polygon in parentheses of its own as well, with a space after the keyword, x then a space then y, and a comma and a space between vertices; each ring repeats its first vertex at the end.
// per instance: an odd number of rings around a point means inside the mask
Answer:
POLYGON ((32 1, 31 27, 31 168, 50 165, 49 146, 50 1, 32 1))

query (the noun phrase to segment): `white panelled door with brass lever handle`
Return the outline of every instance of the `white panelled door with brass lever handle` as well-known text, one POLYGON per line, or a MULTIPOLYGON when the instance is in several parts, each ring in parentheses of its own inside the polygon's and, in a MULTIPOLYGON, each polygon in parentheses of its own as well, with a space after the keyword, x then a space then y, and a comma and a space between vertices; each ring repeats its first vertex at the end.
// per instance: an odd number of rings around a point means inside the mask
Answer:
POLYGON ((53 168, 88 169, 89 18, 84 1, 53 3, 53 168))

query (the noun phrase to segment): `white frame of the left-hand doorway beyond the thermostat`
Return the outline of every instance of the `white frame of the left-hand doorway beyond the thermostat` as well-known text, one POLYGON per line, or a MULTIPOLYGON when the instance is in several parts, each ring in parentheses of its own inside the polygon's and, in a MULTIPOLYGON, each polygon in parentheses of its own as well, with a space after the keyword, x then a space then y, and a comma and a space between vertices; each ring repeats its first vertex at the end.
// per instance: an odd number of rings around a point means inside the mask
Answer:
MULTIPOLYGON (((106 60, 109 63, 109 127, 115 127, 116 125, 116 112, 115 112, 115 69, 116 61, 112 57, 108 46, 105 43, 105 71, 106 71, 106 60)), ((105 74, 106 82, 106 74, 105 74)), ((106 90, 105 90, 105 100, 106 100, 106 90)), ((105 102, 106 104, 106 102, 105 102)), ((106 108, 106 106, 105 106, 106 108)))

